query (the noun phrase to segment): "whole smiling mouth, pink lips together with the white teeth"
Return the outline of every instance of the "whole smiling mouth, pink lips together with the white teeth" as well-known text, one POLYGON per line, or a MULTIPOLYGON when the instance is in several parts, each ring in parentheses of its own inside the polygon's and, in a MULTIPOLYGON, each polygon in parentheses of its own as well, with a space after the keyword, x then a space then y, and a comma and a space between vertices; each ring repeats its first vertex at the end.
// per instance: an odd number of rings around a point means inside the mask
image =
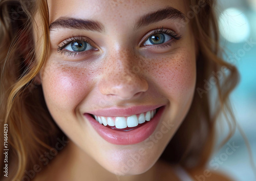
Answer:
POLYGON ((106 108, 83 115, 105 141, 115 145, 132 145, 146 140, 153 134, 164 110, 165 105, 134 106, 121 109, 106 108))

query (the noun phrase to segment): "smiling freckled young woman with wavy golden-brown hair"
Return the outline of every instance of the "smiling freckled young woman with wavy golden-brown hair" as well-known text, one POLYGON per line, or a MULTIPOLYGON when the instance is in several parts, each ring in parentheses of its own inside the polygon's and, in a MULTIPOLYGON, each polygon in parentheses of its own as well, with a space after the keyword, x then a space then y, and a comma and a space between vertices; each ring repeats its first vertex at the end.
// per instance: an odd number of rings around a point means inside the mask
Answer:
POLYGON ((228 180, 205 167, 238 79, 215 3, 0 1, 1 179, 228 180))

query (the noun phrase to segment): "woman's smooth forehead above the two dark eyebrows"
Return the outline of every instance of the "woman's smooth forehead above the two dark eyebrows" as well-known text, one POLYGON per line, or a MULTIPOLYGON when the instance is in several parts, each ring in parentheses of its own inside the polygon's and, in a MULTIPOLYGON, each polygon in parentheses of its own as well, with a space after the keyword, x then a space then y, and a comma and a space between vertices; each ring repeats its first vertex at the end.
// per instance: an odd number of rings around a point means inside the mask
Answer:
POLYGON ((93 19, 108 22, 130 22, 145 13, 165 7, 173 7, 185 14, 185 3, 181 0, 50 0, 48 1, 50 22, 59 17, 93 19))

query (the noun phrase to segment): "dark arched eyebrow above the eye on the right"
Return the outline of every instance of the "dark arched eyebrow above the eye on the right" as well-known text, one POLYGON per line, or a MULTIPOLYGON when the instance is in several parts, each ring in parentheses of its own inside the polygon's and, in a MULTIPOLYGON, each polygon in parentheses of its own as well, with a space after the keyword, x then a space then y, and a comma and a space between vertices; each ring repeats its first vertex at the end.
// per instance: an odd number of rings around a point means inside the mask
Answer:
POLYGON ((147 26, 164 19, 180 19, 186 21, 186 16, 181 11, 173 7, 166 7, 156 12, 145 14, 139 18, 136 22, 135 28, 138 29, 142 26, 147 26))

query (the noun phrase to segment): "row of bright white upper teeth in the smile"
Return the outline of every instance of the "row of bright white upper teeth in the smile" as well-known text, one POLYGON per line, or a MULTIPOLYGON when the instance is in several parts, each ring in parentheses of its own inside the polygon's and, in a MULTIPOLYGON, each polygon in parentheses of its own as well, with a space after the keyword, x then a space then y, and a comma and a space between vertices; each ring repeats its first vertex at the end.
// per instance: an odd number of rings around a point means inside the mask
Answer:
POLYGON ((140 115, 132 115, 130 117, 103 117, 94 116, 95 120, 104 126, 116 126, 118 129, 126 127, 136 127, 138 124, 142 124, 145 121, 150 121, 156 115, 156 109, 141 113, 140 115))

